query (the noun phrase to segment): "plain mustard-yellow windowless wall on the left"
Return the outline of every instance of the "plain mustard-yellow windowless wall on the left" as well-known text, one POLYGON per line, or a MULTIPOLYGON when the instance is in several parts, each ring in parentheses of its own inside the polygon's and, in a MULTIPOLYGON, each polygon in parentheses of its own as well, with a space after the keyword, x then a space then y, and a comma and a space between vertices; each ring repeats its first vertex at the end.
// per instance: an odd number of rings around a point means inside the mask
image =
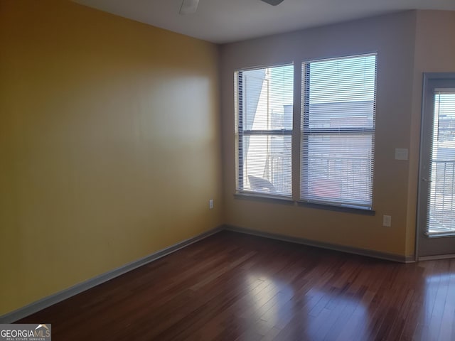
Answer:
POLYGON ((0 315, 220 225, 219 124, 216 45, 1 1, 0 315))

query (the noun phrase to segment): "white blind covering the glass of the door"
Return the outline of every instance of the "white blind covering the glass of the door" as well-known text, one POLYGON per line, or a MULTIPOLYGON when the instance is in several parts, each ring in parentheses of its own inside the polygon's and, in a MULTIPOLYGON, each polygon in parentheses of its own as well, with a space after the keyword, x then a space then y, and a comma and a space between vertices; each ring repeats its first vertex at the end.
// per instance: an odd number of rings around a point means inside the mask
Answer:
POLYGON ((434 94, 427 233, 455 233, 455 90, 434 94))

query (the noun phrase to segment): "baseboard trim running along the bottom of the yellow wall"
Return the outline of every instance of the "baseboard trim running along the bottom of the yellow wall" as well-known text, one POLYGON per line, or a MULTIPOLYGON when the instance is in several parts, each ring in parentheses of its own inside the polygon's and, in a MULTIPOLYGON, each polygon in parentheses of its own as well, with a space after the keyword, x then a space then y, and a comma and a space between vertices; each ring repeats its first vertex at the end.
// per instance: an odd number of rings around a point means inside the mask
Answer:
POLYGON ((77 295, 78 293, 82 293, 83 291, 93 288, 94 286, 98 286, 102 283, 105 283, 111 280, 112 278, 118 277, 122 274, 126 274, 128 271, 137 269, 139 268, 139 266, 149 264, 151 261, 156 261, 156 259, 160 259, 161 257, 167 256, 168 254, 171 254, 179 249, 183 249, 183 247, 188 247, 188 245, 190 244, 199 242, 200 240, 205 239, 211 236, 212 234, 220 232, 223 228, 224 228, 223 226, 215 227, 214 229, 210 229, 207 232, 198 234, 195 237, 183 240, 183 242, 178 242, 177 244, 174 244, 171 247, 166 247, 166 249, 161 249, 159 251, 154 252, 153 254, 149 254, 149 256, 137 259, 137 261, 132 261, 131 263, 125 264, 124 266, 120 266, 117 269, 108 271, 105 274, 101 274, 100 276, 90 278, 82 283, 77 283, 75 284, 75 286, 71 286, 70 288, 66 288, 63 291, 59 291, 58 293, 54 293, 53 295, 42 298, 41 300, 25 305, 22 308, 18 308, 14 311, 11 311, 11 313, 1 315, 0 324, 14 323, 17 320, 21 320, 21 318, 25 318, 28 315, 37 313, 39 310, 43 310, 44 308, 50 307, 50 305, 54 305, 55 303, 64 301, 67 298, 77 295))

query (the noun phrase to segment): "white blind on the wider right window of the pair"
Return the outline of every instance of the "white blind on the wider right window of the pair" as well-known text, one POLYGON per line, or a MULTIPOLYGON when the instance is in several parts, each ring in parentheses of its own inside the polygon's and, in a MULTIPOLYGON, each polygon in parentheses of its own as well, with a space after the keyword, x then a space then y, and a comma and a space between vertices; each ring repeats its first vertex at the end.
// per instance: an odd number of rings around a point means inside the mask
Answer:
POLYGON ((373 207, 376 55, 302 64, 301 193, 373 207))

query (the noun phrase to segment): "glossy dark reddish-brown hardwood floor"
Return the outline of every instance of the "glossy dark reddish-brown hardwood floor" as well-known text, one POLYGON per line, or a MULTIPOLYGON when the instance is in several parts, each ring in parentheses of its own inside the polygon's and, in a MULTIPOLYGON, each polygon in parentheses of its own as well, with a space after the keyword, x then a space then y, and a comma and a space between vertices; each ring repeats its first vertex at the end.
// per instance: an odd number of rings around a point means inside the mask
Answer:
POLYGON ((220 232, 18 323, 53 340, 455 340, 455 259, 220 232))

